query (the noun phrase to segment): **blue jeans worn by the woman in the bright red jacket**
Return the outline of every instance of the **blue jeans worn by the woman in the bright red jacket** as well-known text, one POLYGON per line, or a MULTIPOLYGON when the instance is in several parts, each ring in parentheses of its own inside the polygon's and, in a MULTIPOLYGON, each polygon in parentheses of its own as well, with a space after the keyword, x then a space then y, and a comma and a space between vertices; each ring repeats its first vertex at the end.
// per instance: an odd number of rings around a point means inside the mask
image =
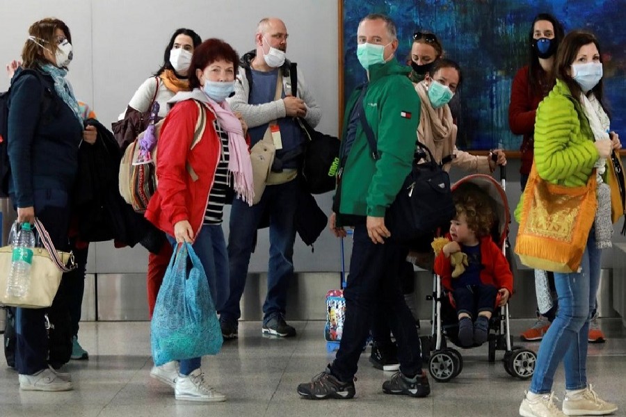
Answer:
MULTIPOLYGON (((176 240, 168 236, 168 240, 176 246, 176 240)), ((221 224, 203 224, 200 233, 195 237, 193 250, 198 255, 204 273, 207 274, 211 298, 217 311, 228 299, 228 258, 226 256, 226 240, 221 224)), ((180 361, 181 375, 189 375, 200 368, 202 358, 184 359, 180 361)))

